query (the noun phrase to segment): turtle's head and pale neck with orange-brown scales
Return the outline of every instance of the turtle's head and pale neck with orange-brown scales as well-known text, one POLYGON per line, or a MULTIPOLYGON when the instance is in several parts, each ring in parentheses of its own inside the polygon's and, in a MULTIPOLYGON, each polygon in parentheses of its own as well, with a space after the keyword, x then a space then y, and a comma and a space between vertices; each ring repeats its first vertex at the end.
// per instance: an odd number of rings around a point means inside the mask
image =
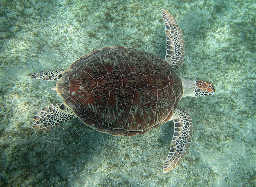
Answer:
POLYGON ((213 95, 215 92, 214 85, 209 81, 201 80, 189 80, 181 78, 183 95, 182 97, 203 97, 207 95, 213 95))

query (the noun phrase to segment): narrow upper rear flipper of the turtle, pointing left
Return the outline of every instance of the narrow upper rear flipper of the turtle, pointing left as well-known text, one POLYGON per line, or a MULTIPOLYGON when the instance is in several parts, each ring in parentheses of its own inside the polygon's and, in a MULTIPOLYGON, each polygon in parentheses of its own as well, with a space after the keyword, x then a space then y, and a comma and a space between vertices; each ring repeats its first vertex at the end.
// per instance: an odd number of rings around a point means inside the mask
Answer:
POLYGON ((42 79, 44 81, 55 81, 61 79, 62 74, 65 70, 55 70, 55 71, 38 71, 35 73, 29 73, 31 79, 42 79))

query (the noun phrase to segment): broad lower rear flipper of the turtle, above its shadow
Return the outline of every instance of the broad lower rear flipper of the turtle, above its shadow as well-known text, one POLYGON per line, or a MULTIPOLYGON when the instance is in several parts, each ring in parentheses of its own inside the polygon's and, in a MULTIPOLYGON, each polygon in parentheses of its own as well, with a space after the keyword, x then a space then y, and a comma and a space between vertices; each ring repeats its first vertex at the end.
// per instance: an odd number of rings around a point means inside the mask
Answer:
POLYGON ((45 106, 34 117, 32 128, 38 131, 50 130, 65 121, 76 118, 74 112, 64 103, 45 106))

